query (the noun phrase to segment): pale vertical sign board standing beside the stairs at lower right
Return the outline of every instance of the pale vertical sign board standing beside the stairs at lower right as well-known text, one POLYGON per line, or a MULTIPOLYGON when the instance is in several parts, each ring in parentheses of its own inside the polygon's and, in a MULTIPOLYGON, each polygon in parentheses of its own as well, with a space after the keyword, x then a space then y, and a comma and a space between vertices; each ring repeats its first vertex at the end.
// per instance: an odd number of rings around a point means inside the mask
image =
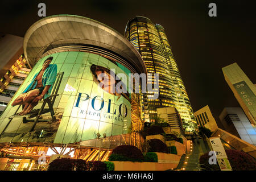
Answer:
POLYGON ((212 148, 216 153, 218 166, 220 166, 221 171, 232 171, 232 168, 228 160, 228 156, 226 155, 225 149, 221 143, 220 138, 210 138, 210 144, 212 145, 212 148))

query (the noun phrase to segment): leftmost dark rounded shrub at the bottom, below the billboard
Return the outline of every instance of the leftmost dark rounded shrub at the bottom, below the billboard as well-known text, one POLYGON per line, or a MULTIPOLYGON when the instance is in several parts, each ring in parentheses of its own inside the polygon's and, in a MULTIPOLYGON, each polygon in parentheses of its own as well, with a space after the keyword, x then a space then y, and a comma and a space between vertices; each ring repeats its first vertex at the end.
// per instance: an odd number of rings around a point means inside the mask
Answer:
POLYGON ((49 163, 48 171, 73 171, 74 159, 61 158, 55 159, 49 163))

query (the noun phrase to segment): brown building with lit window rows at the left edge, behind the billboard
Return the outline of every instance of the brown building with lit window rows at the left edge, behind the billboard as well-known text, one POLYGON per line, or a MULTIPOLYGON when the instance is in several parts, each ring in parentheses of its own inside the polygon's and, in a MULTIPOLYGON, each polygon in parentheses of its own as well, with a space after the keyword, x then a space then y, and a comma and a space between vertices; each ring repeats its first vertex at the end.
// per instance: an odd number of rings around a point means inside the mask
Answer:
POLYGON ((23 56, 23 38, 0 34, 0 114, 30 72, 23 56))

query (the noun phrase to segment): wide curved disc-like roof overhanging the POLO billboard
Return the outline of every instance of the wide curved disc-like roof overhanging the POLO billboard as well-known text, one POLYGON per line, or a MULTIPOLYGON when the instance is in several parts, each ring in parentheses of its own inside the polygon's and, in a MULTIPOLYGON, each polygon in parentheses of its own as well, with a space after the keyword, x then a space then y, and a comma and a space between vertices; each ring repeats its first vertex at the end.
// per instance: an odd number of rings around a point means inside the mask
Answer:
POLYGON ((77 15, 53 15, 32 24, 24 36, 24 56, 32 67, 54 51, 97 50, 117 59, 132 72, 147 73, 146 65, 133 44, 113 28, 77 15), (74 49, 75 48, 75 49, 74 49))

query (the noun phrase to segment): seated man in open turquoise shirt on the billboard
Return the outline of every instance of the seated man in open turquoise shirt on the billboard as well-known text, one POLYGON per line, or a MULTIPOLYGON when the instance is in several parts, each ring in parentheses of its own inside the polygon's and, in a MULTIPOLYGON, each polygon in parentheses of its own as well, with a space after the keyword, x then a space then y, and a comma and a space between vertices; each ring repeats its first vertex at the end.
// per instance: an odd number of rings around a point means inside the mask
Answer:
POLYGON ((53 57, 48 57, 44 61, 42 69, 35 74, 30 85, 11 104, 24 105, 19 115, 30 113, 42 98, 47 98, 51 94, 57 76, 57 65, 51 64, 52 59, 53 57))

